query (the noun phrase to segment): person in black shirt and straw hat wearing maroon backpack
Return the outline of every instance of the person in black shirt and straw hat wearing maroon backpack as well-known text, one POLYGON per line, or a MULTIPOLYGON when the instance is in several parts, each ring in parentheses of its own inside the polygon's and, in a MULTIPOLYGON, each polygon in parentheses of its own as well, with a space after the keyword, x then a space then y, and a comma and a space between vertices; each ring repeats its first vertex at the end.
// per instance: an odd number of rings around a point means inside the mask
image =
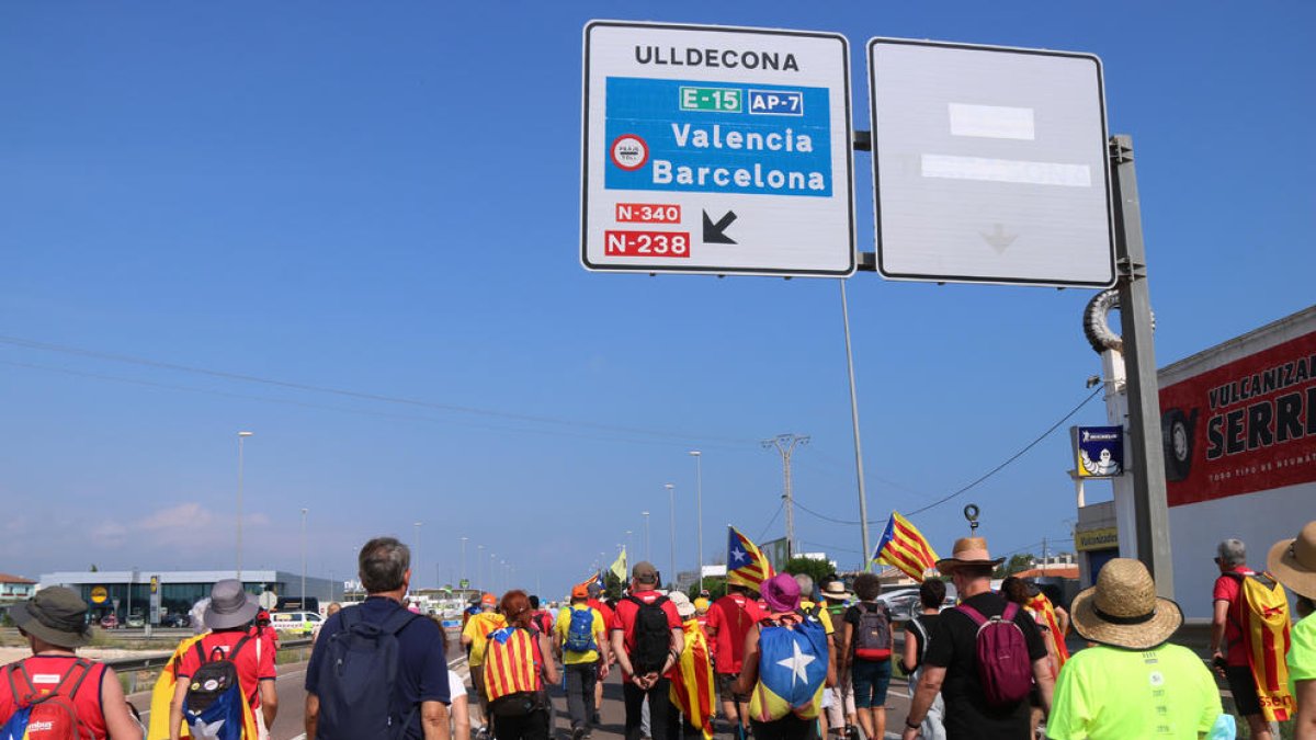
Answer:
POLYGON ((992 593, 992 571, 1005 558, 994 560, 987 540, 955 540, 951 553, 937 561, 937 569, 950 575, 962 600, 941 612, 928 637, 903 737, 919 737, 938 691, 946 702, 948 740, 1028 737, 1032 681, 1048 712, 1055 685, 1037 623, 1017 604, 1007 604, 992 593))

